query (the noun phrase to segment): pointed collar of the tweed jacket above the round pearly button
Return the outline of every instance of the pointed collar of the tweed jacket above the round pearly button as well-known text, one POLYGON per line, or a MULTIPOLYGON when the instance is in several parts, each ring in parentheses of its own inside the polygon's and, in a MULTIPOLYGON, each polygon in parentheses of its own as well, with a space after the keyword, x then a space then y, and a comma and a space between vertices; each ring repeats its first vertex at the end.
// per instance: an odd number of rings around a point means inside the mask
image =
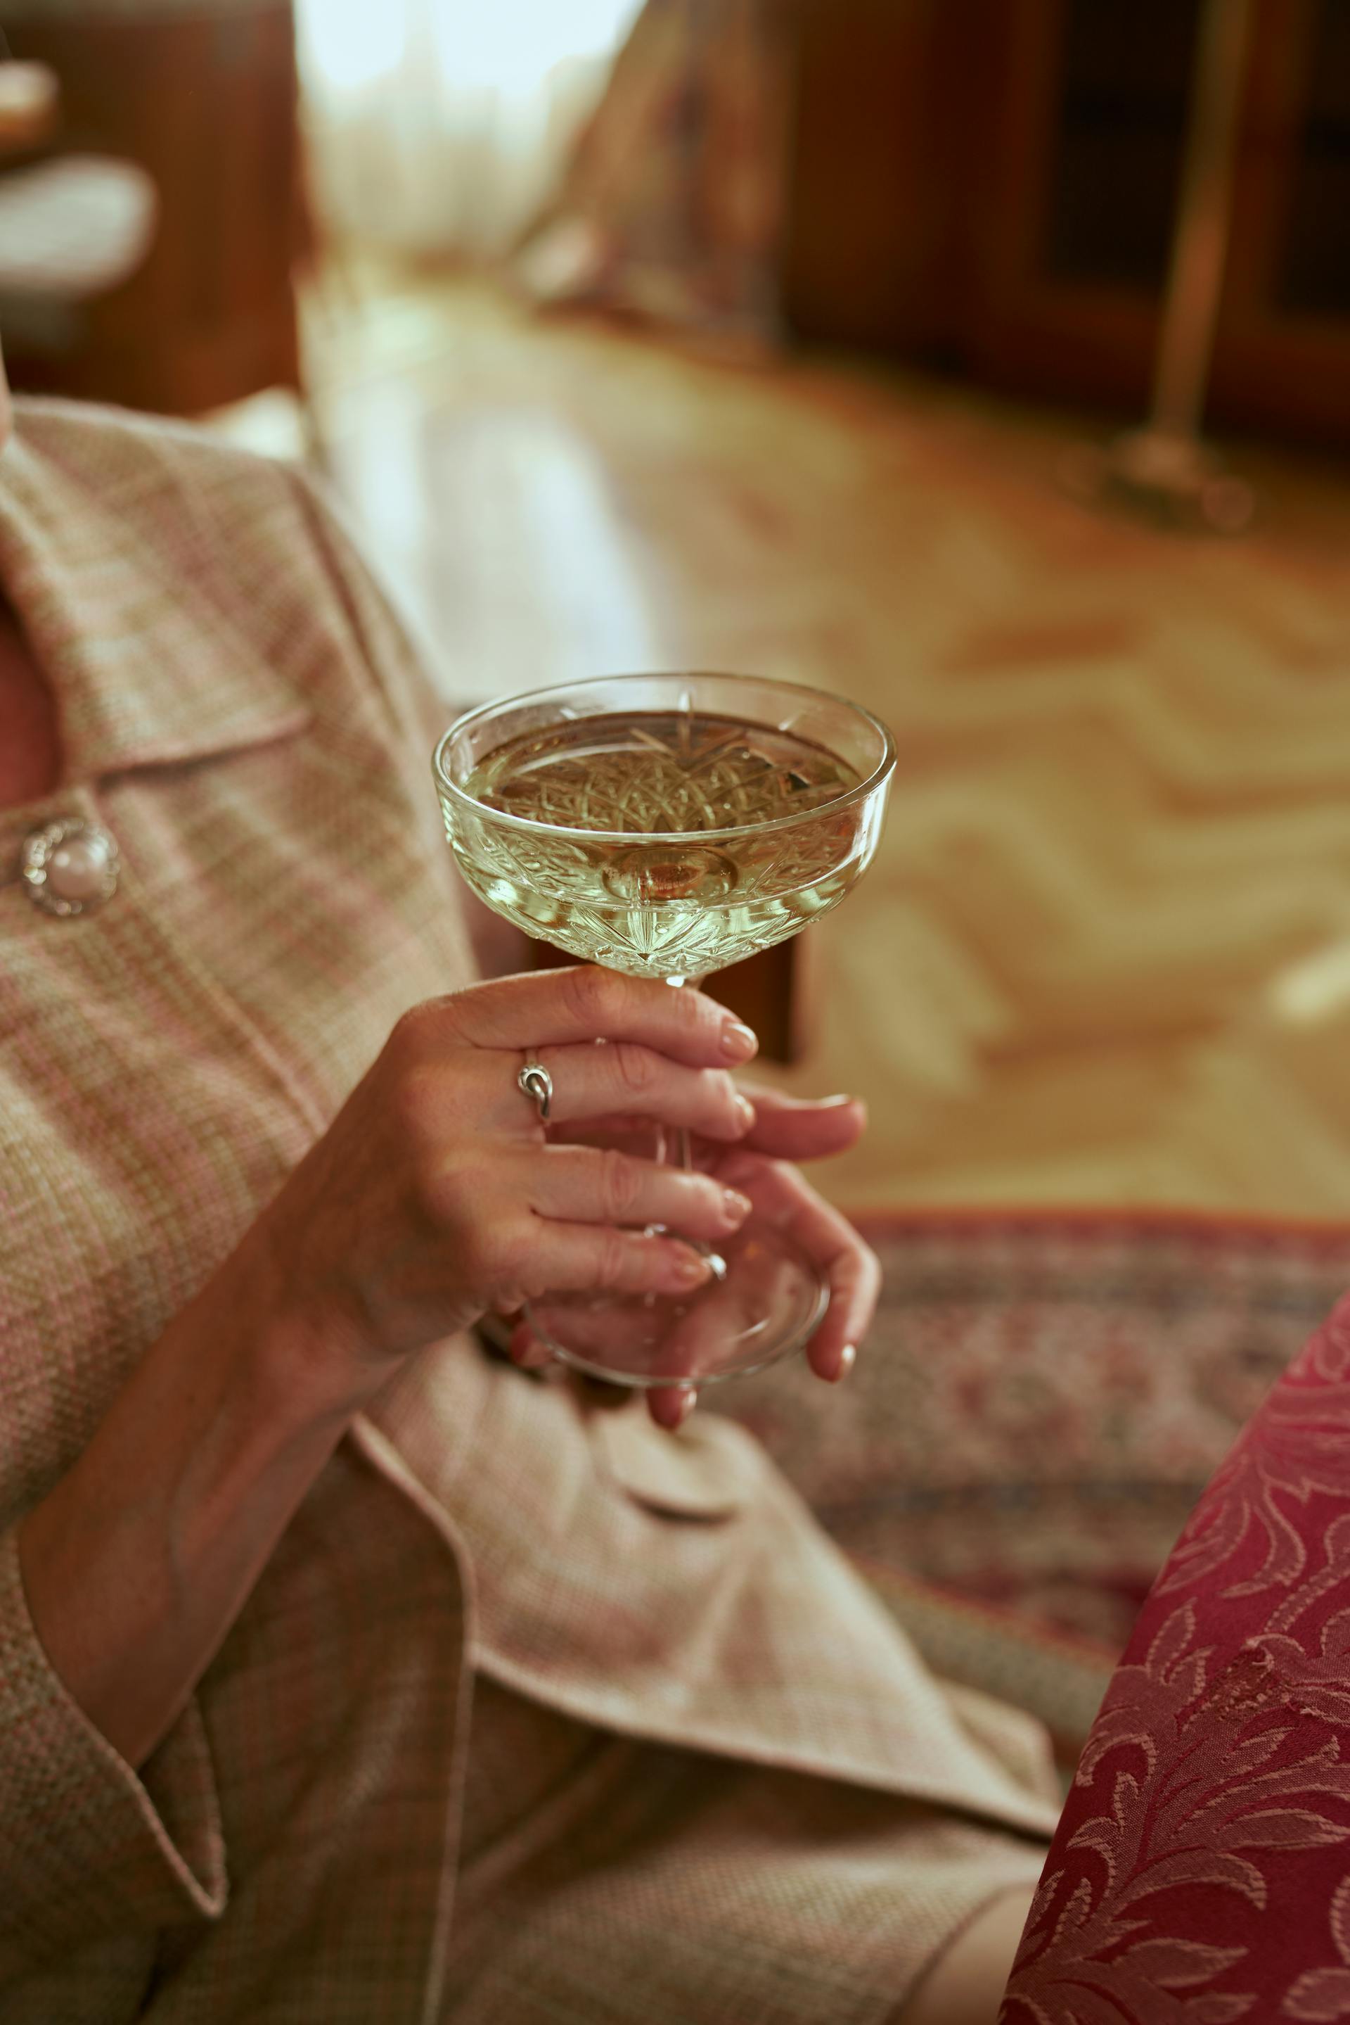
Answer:
POLYGON ((40 405, 20 403, 0 458, 0 583, 57 693, 63 782, 304 729, 296 691, 190 563, 156 547, 154 518, 138 514, 142 472, 61 446, 40 405))

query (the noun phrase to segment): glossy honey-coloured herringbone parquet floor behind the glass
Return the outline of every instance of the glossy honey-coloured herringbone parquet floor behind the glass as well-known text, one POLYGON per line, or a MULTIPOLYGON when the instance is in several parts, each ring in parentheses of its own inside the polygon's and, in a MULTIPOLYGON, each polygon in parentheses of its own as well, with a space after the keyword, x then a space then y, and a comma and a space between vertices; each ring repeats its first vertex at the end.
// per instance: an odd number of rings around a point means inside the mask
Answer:
POLYGON ((1208 543, 1061 496, 1065 417, 708 362, 463 284, 316 316, 334 476, 453 697, 844 691, 901 763, 787 1075, 862 1203, 1350 1217, 1350 488, 1243 454, 1208 543))

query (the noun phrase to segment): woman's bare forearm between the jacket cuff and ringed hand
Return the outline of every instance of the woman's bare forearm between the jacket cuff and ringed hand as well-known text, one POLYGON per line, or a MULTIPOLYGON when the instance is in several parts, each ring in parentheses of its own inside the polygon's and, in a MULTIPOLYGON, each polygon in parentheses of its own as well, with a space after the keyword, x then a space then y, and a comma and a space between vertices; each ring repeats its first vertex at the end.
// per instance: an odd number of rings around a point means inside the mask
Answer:
POLYGON ((178 1717, 364 1403, 314 1326, 275 1306, 245 1243, 20 1525, 43 1648, 134 1766, 178 1717))

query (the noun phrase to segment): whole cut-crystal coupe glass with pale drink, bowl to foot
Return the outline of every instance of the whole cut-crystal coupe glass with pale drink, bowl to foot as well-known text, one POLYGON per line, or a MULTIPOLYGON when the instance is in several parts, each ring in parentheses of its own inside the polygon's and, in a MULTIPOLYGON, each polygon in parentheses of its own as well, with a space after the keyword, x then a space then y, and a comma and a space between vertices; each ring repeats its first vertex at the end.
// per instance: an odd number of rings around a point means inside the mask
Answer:
MULTIPOLYGON (((585 962, 686 984, 844 899, 876 850, 895 745, 822 691, 621 674, 470 711, 433 770, 488 907, 585 962)), ((656 1158, 670 1156, 688 1164, 688 1134, 658 1132, 656 1158)), ((619 1385, 706 1385, 810 1339, 828 1288, 761 1205, 700 1249, 712 1272, 694 1294, 549 1296, 530 1328, 619 1385)))

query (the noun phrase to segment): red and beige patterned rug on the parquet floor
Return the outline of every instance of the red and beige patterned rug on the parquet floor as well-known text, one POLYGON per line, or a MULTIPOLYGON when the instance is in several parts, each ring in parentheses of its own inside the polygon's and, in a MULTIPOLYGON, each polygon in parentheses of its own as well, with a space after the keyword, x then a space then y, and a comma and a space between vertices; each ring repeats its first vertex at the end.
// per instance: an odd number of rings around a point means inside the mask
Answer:
POLYGON ((860 1217, 858 1369, 716 1407, 765 1442, 929 1663, 1079 1742, 1200 1488, 1350 1286, 1350 1229, 1192 1215, 860 1217))

